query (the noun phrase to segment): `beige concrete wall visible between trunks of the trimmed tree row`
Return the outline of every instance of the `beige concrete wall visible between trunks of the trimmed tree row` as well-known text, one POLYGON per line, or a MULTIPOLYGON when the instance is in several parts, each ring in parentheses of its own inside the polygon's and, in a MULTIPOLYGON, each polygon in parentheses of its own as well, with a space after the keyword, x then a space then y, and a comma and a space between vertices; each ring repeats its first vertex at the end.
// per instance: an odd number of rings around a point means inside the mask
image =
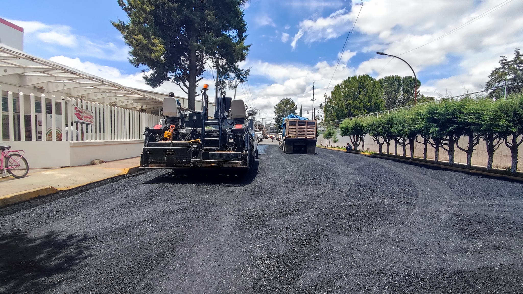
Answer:
MULTIPOLYGON (((339 131, 338 131, 337 137, 339 139, 339 142, 334 144, 331 140, 330 145, 346 146, 347 143, 350 143, 349 138, 342 137, 339 134, 339 131)), ((423 142, 423 139, 418 138, 418 141, 423 142)), ((327 140, 325 140, 325 138, 323 138, 322 134, 320 134, 320 137, 318 137, 317 144, 318 145, 323 144, 324 146, 327 145, 327 140)), ((461 137, 461 139, 459 140, 459 145, 462 146, 463 148, 467 149, 468 138, 461 137)), ((358 148, 361 150, 362 146, 359 145, 358 148)), ((387 148, 386 144, 383 144, 383 153, 387 152, 386 148, 387 148)), ((398 145, 397 149, 398 149, 397 154, 403 155, 402 146, 398 145)), ((424 149, 424 145, 416 142, 414 144, 414 156, 423 158, 423 149, 424 149)), ((475 147, 475 149, 476 150, 474 150, 474 153, 472 154, 472 164, 477 165, 477 166, 486 166, 488 156, 487 156, 487 152, 486 152, 485 142, 483 140, 480 140, 480 144, 477 145, 475 147)), ((365 150, 374 151, 374 152, 379 151, 378 144, 376 142, 374 142, 370 138, 369 135, 367 135, 365 137, 365 150)), ((436 150, 432 146, 428 145, 427 159, 434 159, 435 151, 436 150)), ((394 141, 391 142, 390 154, 394 154, 394 141)), ((410 153, 409 147, 407 145, 406 155, 410 156, 410 154, 411 153, 410 153)), ((445 151, 443 149, 439 150, 439 160, 441 160, 441 161, 449 160, 447 151, 445 151)), ((519 161, 518 171, 523 171, 523 144, 521 144, 519 146, 518 161, 519 161)), ((463 164, 467 163, 467 154, 465 152, 459 150, 458 148, 456 148, 456 152, 454 152, 454 162, 463 163, 463 164)), ((507 148, 507 146, 505 146, 504 143, 502 143, 502 145, 499 146, 499 149, 494 153, 493 165, 496 168, 509 168, 510 167, 510 150, 507 148)))

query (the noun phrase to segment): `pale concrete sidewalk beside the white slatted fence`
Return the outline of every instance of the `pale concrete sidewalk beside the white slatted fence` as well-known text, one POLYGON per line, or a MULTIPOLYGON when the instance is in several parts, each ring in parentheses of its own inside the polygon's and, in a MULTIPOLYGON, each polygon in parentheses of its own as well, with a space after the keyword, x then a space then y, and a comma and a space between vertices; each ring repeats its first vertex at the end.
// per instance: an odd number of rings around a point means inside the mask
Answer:
POLYGON ((96 165, 31 169, 24 178, 0 178, 0 207, 138 171, 140 157, 96 165))

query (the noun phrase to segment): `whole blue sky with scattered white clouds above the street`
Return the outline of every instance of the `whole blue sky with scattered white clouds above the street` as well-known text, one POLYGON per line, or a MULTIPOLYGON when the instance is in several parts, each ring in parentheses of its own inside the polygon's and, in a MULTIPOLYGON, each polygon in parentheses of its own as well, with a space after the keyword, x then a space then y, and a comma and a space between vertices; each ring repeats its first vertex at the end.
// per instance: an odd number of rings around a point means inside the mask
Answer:
MULTIPOLYGON (((401 61, 375 52, 402 54, 465 24, 402 55, 422 81, 422 93, 458 95, 483 87, 499 56, 511 56, 515 47, 523 45, 523 1, 365 0, 362 8, 356 4, 359 0, 353 1, 248 2, 247 42, 252 47, 242 65, 251 67, 252 75, 248 87, 238 88, 238 95, 262 109, 261 116, 268 119, 272 107, 287 96, 303 105, 304 111, 311 110, 313 82, 320 99, 317 105, 325 92, 350 75, 410 75, 401 61), (327 89, 360 8, 354 34, 327 89)), ((126 19, 116 0, 8 1, 0 17, 24 27, 25 51, 30 54, 127 86, 149 88, 140 70, 127 61, 128 48, 110 24, 126 19)), ((207 77, 204 81, 212 86, 212 76, 207 77)), ((172 83, 157 91, 183 94, 172 83)))

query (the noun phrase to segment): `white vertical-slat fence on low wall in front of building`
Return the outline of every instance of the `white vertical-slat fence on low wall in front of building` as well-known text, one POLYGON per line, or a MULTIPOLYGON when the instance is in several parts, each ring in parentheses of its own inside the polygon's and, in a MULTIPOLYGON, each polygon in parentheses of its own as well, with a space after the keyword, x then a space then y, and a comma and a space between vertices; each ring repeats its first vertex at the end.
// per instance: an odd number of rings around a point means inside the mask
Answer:
MULTIPOLYGON (((0 93, 6 93, 2 92, 1 85, 0 93)), ((1 110, 0 141, 26 141, 26 139, 30 141, 138 140, 143 138, 142 133, 146 126, 154 126, 160 121, 160 116, 142 111, 94 103, 74 97, 55 97, 54 95, 46 97, 44 94, 35 95, 22 92, 2 94, 1 110), (4 111, 5 98, 7 98, 7 111, 4 111), (26 99, 29 100, 28 105, 26 99), (40 112, 35 110, 38 102, 41 103, 40 112), (47 111, 49 104, 51 109, 47 111), (25 109, 28 106, 29 111, 25 109), (92 111, 94 124, 76 123, 74 106, 92 111), (51 115, 51 126, 47 126, 47 115, 49 114, 51 115), (37 120, 37 115, 41 115, 41 120, 37 120), (56 121, 58 115, 61 116, 61 119, 56 121), (29 126, 26 126, 27 116, 30 116, 30 120, 27 121, 29 126), (41 128, 38 126, 39 123, 41 123, 41 128), (78 137, 72 131, 67 133, 69 138, 61 135, 69 126, 73 126, 77 130, 78 137), (41 136, 38 133, 39 129, 41 129, 41 136), (5 131, 7 133, 4 133, 5 131)))

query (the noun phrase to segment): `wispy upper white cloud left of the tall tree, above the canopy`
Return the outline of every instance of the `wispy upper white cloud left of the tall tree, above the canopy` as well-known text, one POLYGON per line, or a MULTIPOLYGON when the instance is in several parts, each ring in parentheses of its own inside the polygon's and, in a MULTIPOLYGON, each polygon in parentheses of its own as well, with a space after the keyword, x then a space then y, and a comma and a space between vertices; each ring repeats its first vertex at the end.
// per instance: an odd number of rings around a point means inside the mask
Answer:
MULTIPOLYGON (((113 61, 127 61, 129 48, 123 44, 119 46, 112 42, 92 40, 85 36, 75 35, 72 28, 62 25, 49 25, 40 21, 23 21, 8 19, 13 24, 24 28, 25 42, 46 43, 53 47, 48 48, 56 52, 56 46, 65 47, 65 52, 73 56, 90 56, 98 59, 113 61)), ((45 47, 44 47, 45 48, 45 47)))

